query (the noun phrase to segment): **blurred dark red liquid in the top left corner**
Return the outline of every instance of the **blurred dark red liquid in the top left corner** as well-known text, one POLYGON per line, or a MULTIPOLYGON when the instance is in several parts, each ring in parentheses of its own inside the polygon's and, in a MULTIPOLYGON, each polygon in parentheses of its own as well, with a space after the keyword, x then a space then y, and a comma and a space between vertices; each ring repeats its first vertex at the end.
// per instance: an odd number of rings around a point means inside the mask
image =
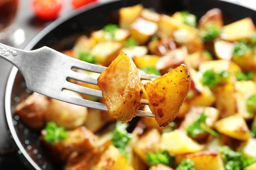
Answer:
POLYGON ((18 8, 18 0, 0 0, 0 32, 12 24, 18 8))

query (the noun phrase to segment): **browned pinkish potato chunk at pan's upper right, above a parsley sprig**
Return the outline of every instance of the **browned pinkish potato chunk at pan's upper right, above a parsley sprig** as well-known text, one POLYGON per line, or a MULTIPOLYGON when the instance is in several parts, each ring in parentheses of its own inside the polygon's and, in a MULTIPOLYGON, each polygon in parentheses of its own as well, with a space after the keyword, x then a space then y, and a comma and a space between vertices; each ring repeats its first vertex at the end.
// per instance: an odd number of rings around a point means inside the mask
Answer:
POLYGON ((206 29, 208 24, 212 24, 218 27, 223 27, 223 19, 221 10, 218 8, 213 8, 207 13, 205 13, 199 20, 198 28, 199 29, 206 29))

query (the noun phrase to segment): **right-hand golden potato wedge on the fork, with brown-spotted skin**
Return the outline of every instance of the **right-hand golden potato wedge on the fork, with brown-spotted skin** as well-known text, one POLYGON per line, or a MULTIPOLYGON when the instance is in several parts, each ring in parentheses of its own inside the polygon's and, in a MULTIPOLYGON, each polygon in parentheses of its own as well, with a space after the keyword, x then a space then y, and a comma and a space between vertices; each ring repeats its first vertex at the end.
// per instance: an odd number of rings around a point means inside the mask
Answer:
POLYGON ((143 85, 149 108, 160 127, 175 119, 190 88, 190 76, 185 65, 173 69, 143 85))

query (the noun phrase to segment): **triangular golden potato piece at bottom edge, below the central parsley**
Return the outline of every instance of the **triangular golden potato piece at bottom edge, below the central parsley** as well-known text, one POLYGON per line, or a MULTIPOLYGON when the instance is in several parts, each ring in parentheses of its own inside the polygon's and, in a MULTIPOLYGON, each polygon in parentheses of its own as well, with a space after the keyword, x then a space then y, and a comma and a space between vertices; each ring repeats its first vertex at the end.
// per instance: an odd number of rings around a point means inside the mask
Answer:
POLYGON ((122 170, 133 170, 125 157, 119 153, 119 150, 110 145, 100 156, 93 170, 120 170, 120 167, 122 167, 122 170))

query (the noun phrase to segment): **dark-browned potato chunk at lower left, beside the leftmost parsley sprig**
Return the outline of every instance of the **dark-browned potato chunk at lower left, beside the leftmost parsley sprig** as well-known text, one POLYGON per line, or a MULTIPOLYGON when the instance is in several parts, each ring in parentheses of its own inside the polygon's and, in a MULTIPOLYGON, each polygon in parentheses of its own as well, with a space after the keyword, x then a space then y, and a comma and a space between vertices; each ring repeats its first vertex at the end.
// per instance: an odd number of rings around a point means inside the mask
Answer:
POLYGON ((41 138, 43 139, 44 144, 50 150, 53 157, 60 161, 67 160, 68 156, 73 152, 84 153, 96 148, 94 143, 97 136, 84 126, 68 131, 67 138, 61 142, 56 142, 55 145, 49 144, 45 141, 45 135, 46 131, 42 130, 41 138))

